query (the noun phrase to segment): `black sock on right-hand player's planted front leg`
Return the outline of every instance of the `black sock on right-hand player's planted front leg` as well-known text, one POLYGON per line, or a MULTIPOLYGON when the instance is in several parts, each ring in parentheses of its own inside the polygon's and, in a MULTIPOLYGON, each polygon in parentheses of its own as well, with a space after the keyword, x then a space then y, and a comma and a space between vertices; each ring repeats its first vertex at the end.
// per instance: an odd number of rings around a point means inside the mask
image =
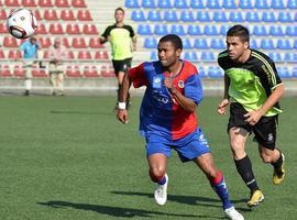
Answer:
POLYGON ((258 189, 256 179, 254 177, 254 173, 252 169, 252 163, 246 155, 245 157, 234 161, 238 172, 241 175, 241 178, 244 180, 246 186, 251 189, 251 191, 255 191, 258 189))

